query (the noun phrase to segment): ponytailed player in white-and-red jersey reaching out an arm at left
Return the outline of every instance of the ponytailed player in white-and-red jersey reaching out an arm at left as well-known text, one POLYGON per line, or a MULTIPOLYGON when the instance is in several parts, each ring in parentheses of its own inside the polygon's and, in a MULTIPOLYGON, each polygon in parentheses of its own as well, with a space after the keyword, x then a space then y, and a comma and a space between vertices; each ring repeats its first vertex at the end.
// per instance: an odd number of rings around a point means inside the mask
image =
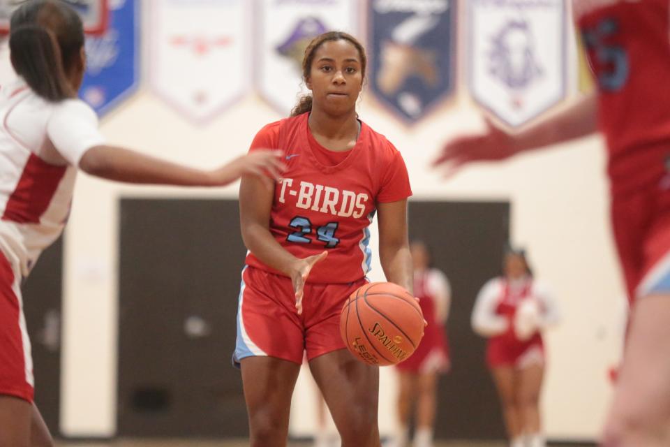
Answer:
POLYGON ((77 168, 119 182, 217 186, 283 167, 258 151, 215 170, 184 168, 120 147, 77 99, 84 31, 66 3, 30 0, 11 17, 16 82, 0 86, 0 447, 53 446, 34 405, 30 342, 20 284, 61 235, 77 168))

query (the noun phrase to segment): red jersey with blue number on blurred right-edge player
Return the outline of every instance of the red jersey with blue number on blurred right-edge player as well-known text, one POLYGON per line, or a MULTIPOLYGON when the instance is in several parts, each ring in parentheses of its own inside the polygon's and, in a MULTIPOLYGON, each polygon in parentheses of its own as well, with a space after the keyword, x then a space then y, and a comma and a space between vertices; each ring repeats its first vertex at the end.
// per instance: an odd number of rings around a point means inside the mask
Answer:
POLYGON ((666 172, 670 147, 669 0, 574 0, 595 73, 613 191, 666 172))

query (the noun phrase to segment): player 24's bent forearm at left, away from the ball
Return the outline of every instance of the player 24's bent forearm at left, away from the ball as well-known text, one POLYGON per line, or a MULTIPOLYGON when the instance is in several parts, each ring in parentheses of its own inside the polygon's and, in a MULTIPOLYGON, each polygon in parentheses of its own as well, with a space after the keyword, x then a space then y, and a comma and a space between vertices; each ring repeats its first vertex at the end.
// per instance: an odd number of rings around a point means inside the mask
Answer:
POLYGON ((299 261, 277 242, 268 228, 260 224, 244 224, 242 240, 260 262, 287 276, 290 276, 291 266, 299 261))

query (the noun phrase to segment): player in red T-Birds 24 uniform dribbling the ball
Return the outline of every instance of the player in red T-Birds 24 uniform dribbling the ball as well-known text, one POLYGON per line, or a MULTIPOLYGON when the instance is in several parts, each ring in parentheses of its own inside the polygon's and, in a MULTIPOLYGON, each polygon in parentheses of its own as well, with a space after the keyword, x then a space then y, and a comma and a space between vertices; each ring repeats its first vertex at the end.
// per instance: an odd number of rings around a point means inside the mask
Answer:
POLYGON ((308 45, 311 96, 251 145, 285 151, 280 182, 242 177, 242 274, 234 360, 241 363, 251 446, 285 446, 303 351, 345 447, 378 447, 379 370, 345 349, 339 315, 366 284, 368 226, 378 214, 380 261, 389 281, 412 290, 401 154, 358 119, 366 55, 349 34, 308 45))

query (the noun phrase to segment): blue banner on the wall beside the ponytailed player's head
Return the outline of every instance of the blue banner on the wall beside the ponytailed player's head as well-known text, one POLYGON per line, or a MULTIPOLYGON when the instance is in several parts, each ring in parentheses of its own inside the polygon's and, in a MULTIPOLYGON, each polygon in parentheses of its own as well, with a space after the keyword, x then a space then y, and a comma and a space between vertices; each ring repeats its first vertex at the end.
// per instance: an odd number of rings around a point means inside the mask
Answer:
POLYGON ((112 0, 109 26, 87 36, 87 67, 80 97, 104 115, 133 94, 139 78, 140 0, 112 0))

